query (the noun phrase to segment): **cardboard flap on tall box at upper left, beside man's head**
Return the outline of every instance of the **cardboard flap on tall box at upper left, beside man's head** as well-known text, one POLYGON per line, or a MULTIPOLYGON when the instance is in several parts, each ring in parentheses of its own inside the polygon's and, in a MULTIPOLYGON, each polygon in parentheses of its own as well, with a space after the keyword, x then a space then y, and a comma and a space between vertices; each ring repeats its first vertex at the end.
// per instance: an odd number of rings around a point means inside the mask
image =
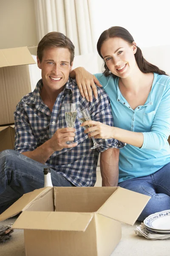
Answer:
POLYGON ((0 67, 35 64, 28 47, 0 49, 0 67))

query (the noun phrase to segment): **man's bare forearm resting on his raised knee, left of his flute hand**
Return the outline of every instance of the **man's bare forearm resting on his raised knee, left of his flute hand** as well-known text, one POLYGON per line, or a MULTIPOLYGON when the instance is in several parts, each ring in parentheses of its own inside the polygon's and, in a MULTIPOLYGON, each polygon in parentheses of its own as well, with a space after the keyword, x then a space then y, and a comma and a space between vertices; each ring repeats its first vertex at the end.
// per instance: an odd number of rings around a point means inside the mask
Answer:
POLYGON ((46 163, 49 157, 54 153, 50 148, 50 140, 43 143, 40 147, 33 151, 26 151, 22 154, 40 163, 46 163))

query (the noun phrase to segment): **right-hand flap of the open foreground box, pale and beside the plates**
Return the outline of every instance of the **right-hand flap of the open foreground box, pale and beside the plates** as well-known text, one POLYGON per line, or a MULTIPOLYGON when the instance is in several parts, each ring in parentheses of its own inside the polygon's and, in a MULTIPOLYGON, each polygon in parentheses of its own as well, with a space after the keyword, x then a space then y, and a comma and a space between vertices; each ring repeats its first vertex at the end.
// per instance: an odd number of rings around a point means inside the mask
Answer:
POLYGON ((116 221, 133 225, 149 200, 150 196, 118 187, 97 212, 116 221))

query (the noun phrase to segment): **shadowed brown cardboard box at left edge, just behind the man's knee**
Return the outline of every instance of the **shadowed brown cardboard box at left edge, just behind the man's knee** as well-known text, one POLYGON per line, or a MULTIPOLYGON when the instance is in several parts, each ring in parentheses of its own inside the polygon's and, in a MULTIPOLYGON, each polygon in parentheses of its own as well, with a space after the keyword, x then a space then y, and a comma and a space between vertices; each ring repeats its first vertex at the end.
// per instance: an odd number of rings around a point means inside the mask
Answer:
POLYGON ((0 152, 5 149, 14 149, 14 125, 0 126, 0 152))

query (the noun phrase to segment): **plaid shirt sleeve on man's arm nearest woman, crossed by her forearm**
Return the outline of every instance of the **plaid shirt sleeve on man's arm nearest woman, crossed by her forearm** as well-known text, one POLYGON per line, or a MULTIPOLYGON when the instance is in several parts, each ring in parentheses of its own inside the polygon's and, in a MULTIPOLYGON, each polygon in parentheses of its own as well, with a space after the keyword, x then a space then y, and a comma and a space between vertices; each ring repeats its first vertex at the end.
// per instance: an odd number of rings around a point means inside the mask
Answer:
MULTIPOLYGON (((113 116, 111 111, 111 105, 109 97, 103 88, 97 87, 98 99, 93 97, 93 102, 89 102, 89 110, 91 113, 91 119, 94 121, 102 122, 106 125, 113 126, 113 116)), ((108 148, 123 148, 125 143, 122 143, 116 139, 95 139, 96 142, 102 146, 97 148, 99 152, 103 152, 108 148)))

